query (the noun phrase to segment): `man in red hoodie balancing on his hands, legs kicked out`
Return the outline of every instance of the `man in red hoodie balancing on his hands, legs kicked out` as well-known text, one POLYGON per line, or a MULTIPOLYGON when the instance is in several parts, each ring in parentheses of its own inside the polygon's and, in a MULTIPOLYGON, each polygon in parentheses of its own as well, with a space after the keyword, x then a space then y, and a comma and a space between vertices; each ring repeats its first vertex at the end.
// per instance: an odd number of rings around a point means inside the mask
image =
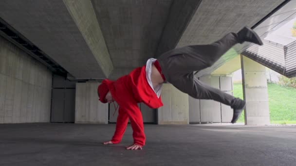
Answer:
POLYGON ((167 51, 157 60, 150 58, 145 66, 116 81, 103 80, 98 86, 99 100, 103 103, 116 101, 119 105, 115 133, 104 144, 120 143, 130 120, 134 142, 127 149, 142 149, 146 136, 137 103, 144 102, 153 109, 163 106, 160 93, 164 82, 171 83, 195 99, 215 100, 229 105, 233 109, 231 123, 235 123, 246 105, 245 101, 202 83, 194 77, 194 71, 212 66, 227 50, 243 42, 263 44, 253 30, 244 27, 238 33, 227 33, 212 44, 185 46, 167 51))

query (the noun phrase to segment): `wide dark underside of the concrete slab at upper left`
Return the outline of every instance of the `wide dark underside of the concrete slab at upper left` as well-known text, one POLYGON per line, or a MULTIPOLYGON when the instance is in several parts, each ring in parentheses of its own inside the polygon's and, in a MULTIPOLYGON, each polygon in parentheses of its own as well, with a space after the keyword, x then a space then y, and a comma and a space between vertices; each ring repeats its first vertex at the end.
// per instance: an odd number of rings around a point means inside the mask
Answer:
MULTIPOLYGON (((84 8, 81 12, 85 15, 77 19, 90 16, 87 15, 90 10, 84 8)), ((2 0, 0 17, 76 78, 105 78, 111 72, 106 49, 101 46, 98 48, 103 50, 93 50, 88 45, 103 45, 100 36, 94 34, 95 38, 87 38, 84 35, 92 31, 90 23, 96 20, 88 17, 86 23, 89 24, 84 26, 90 29, 84 31, 80 27, 81 33, 62 0, 34 0, 30 3, 25 0, 2 0), (100 51, 103 55, 98 55, 100 51), (105 62, 108 62, 108 67, 105 62), (103 63, 104 66, 100 66, 103 63)))

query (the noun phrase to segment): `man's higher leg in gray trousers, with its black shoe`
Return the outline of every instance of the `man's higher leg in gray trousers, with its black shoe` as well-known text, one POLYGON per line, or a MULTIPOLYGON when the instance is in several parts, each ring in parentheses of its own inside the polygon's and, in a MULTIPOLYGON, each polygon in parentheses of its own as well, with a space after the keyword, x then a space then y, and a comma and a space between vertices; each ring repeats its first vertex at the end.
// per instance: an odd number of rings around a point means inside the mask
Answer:
POLYGON ((190 73, 212 66, 227 50, 245 41, 262 45, 259 36, 245 27, 239 33, 227 33, 212 44, 185 46, 167 51, 158 61, 169 82, 170 77, 178 73, 190 73))

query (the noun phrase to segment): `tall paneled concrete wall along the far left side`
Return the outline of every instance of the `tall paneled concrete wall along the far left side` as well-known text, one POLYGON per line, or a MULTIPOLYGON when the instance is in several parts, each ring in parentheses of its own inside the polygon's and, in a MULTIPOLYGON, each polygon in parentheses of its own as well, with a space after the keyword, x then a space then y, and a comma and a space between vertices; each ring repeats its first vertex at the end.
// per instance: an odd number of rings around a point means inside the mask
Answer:
POLYGON ((52 72, 0 36, 0 123, 49 122, 52 72))

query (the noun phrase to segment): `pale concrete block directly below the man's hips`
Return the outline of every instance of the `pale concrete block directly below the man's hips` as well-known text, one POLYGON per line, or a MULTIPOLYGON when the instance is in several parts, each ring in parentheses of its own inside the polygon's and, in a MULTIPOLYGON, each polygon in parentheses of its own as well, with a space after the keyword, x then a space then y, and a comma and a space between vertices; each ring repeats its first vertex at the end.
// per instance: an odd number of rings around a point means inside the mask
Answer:
POLYGON ((164 106, 158 109, 158 124, 189 124, 188 95, 164 83, 161 96, 164 106))

